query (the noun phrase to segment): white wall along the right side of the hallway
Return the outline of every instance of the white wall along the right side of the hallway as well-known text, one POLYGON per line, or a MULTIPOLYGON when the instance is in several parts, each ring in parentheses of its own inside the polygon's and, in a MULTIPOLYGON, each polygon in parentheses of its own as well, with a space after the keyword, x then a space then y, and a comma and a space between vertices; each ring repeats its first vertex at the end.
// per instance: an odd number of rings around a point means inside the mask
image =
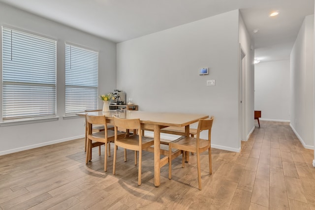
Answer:
POLYGON ((291 127, 314 148, 314 15, 305 17, 290 55, 291 127))

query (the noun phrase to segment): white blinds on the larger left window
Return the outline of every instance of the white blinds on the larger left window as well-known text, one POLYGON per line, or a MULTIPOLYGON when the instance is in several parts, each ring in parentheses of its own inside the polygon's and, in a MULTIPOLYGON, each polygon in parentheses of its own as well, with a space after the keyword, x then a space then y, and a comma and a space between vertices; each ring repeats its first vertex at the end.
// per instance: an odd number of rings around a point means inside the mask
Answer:
POLYGON ((2 120, 56 116, 56 41, 2 27, 2 120))

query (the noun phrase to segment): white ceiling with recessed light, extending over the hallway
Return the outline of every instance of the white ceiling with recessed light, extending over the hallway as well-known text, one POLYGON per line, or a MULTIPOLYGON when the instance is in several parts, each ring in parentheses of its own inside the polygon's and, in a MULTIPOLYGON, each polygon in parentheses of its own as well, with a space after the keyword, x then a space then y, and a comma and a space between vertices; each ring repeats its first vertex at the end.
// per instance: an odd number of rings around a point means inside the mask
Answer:
POLYGON ((240 9, 261 61, 289 59, 314 0, 0 0, 8 5, 122 42, 240 9), (278 10, 280 14, 269 17, 278 10), (253 33, 254 29, 258 32, 253 33))

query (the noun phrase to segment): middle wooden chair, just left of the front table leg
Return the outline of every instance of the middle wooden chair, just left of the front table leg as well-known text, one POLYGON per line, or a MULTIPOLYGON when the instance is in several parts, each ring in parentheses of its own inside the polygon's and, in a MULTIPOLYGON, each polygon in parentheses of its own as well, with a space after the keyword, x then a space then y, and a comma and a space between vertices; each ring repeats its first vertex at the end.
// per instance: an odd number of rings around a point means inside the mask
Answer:
MULTIPOLYGON (((115 147, 122 147, 127 150, 134 150, 134 164, 137 165, 137 151, 139 151, 139 168, 138 168, 138 185, 141 185, 141 161, 142 161, 142 150, 154 145, 154 139, 149 137, 143 137, 141 132, 141 124, 139 119, 120 119, 114 117, 114 128, 115 128, 115 147), (124 129, 136 129, 139 135, 126 136, 123 139, 119 139, 118 127, 124 129)), ((114 163, 113 163, 113 175, 116 172, 116 154, 117 150, 114 150, 114 163)), ((125 153, 126 161, 126 153, 125 153)))

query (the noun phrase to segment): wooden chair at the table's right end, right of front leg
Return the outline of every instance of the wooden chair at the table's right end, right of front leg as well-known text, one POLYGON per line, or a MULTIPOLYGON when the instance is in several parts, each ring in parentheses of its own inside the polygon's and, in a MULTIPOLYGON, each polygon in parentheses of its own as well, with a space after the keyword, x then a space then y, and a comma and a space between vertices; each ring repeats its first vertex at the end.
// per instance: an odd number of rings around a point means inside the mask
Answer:
POLYGON ((183 159, 182 167, 185 167, 185 152, 195 152, 197 157, 197 169, 198 169, 198 185, 201 190, 201 171, 200 171, 200 153, 208 150, 209 152, 209 171, 212 174, 212 161, 211 161, 211 128, 213 123, 213 117, 207 120, 199 120, 197 128, 197 137, 182 136, 179 139, 169 143, 168 148, 168 179, 172 179, 172 149, 182 150, 183 159), (200 139, 200 132, 208 130, 208 140, 200 139))

